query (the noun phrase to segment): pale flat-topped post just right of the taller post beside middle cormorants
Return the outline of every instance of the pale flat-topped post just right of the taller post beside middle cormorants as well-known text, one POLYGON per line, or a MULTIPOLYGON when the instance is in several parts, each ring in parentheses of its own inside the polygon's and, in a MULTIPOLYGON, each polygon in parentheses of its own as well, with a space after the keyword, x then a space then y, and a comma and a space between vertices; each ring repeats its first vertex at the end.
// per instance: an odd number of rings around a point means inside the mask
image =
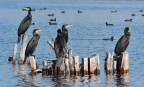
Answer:
POLYGON ((79 67, 79 56, 74 56, 74 73, 75 75, 80 75, 80 67, 79 67))

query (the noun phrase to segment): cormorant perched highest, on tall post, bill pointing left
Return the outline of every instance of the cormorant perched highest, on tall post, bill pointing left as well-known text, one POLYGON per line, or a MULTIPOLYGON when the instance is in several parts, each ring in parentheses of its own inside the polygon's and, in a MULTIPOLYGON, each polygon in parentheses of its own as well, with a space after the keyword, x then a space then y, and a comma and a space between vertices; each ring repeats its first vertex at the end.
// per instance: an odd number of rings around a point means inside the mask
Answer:
POLYGON ((24 34, 29 26, 31 25, 31 21, 32 21, 32 15, 31 15, 31 8, 30 7, 26 7, 24 8, 24 10, 28 11, 28 14, 27 16, 22 20, 22 22, 20 23, 19 25, 19 28, 18 28, 18 43, 20 42, 20 39, 21 39, 21 34, 24 34))

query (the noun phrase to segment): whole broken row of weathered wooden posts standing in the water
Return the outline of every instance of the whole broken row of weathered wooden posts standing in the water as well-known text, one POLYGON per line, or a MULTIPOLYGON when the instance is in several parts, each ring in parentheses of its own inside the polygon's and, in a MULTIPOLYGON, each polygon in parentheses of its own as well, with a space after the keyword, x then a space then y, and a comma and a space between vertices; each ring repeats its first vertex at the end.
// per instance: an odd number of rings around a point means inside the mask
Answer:
MULTIPOLYGON (((20 51, 20 58, 18 64, 22 65, 25 57, 25 49, 27 44, 27 36, 22 36, 22 46, 20 51)), ((48 44, 54 49, 54 44, 48 40, 48 44)), ((13 64, 16 64, 17 44, 13 49, 13 64)), ((43 61, 42 70, 39 69, 38 63, 34 56, 29 56, 28 64, 31 67, 30 75, 42 73, 42 75, 100 75, 100 61, 99 54, 94 54, 90 57, 82 58, 82 63, 79 62, 79 56, 72 55, 72 49, 68 50, 66 58, 60 58, 58 60, 43 61), (62 63, 60 62, 62 61, 62 63), (61 64, 59 64, 61 63, 61 64), (57 70, 57 66, 60 66, 60 72, 57 70)), ((114 57, 113 52, 107 52, 104 68, 106 74, 125 74, 129 73, 129 55, 127 52, 123 52, 119 58, 114 57)))

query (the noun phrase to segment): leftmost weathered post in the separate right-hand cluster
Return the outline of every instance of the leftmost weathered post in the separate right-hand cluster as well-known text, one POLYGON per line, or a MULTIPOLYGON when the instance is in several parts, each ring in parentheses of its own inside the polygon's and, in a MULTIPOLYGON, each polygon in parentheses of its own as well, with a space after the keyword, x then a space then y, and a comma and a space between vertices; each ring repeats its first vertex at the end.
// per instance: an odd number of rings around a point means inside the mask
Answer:
POLYGON ((107 52, 107 56, 105 59, 105 70, 106 74, 113 73, 113 52, 107 52))

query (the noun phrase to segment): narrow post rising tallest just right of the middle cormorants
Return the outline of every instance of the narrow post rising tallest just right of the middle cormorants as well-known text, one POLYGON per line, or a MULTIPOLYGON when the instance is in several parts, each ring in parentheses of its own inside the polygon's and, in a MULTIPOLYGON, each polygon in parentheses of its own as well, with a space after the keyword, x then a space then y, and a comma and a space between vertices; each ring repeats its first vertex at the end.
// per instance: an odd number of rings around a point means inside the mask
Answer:
POLYGON ((69 59, 69 64, 70 64, 70 73, 74 74, 74 61, 72 57, 72 49, 68 50, 68 59, 69 59))

